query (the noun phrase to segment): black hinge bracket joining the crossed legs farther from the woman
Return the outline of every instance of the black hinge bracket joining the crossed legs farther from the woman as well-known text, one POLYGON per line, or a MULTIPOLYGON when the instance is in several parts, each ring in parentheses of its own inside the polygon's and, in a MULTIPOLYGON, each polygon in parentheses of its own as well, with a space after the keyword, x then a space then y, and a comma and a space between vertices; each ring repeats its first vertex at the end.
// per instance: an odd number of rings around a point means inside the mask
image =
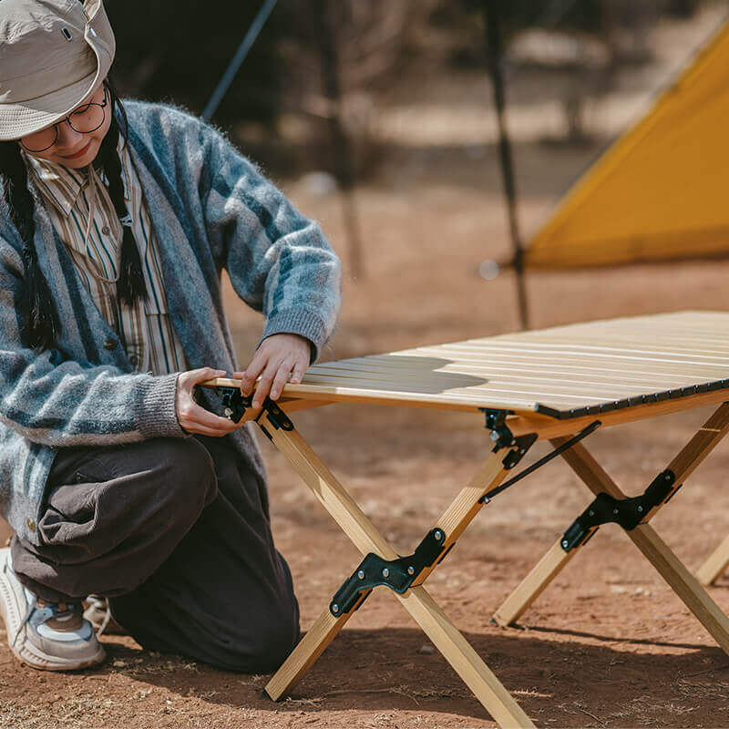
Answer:
POLYGON ((569 552, 586 544, 602 524, 619 524, 626 531, 635 529, 652 508, 660 506, 673 496, 677 490, 675 481, 673 471, 666 469, 653 479, 651 486, 641 496, 614 498, 609 494, 598 494, 562 535, 562 549, 569 552))

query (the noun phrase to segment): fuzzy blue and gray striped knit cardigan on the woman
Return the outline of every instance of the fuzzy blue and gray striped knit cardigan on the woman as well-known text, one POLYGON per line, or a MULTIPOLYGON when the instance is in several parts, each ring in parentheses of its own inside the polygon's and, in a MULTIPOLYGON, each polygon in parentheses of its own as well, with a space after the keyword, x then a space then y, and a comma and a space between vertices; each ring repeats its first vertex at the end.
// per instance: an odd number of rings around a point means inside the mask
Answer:
MULTIPOLYGON (((339 261, 318 226, 200 119, 159 104, 125 107, 170 322, 190 369, 239 368, 222 306, 223 269, 241 299, 265 315, 262 338, 302 334, 318 355, 334 331, 341 286, 339 261)), ((62 323, 56 348, 41 354, 21 341, 23 241, 0 208, 0 511, 37 544, 57 448, 186 434, 175 409, 177 375, 132 374, 39 205, 35 243, 62 323)), ((212 399, 206 390, 200 405, 212 409, 212 399)), ((251 424, 227 437, 265 483, 251 424)))

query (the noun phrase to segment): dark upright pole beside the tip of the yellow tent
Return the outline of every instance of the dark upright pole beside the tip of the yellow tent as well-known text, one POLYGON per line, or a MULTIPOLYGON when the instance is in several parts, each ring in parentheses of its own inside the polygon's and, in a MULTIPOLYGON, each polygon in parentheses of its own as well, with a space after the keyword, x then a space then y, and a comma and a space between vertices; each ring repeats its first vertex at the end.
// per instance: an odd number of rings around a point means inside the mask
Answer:
POLYGON ((511 144, 508 139, 504 108, 504 77, 501 73, 501 34, 498 15, 499 0, 483 0, 484 21, 486 22, 486 40, 488 69, 494 89, 494 102, 498 120, 498 157, 501 163, 501 175, 504 179, 504 193, 507 199, 508 230, 511 246, 514 251, 514 272, 517 276, 517 294, 519 298, 519 323, 522 329, 529 329, 529 303, 524 281, 523 248, 519 235, 517 220, 517 189, 514 166, 511 159, 511 144))

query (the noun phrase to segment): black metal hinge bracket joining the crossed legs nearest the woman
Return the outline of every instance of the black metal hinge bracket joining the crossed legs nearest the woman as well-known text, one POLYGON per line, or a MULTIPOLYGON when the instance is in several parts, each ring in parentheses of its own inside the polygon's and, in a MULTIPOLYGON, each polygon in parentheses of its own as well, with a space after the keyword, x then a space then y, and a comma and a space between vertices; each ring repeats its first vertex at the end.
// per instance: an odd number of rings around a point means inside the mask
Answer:
MULTIPOLYGON (((346 615, 360 603, 360 595, 378 585, 402 594, 410 588, 417 576, 427 567, 435 564, 444 551, 446 533, 443 529, 431 529, 418 544, 413 554, 397 560, 384 560, 370 552, 352 576, 344 580, 342 587, 334 593, 329 611, 335 618, 346 615)), ((451 545, 452 546, 452 545, 451 545)), ((360 603, 361 604, 361 603, 360 603)))

